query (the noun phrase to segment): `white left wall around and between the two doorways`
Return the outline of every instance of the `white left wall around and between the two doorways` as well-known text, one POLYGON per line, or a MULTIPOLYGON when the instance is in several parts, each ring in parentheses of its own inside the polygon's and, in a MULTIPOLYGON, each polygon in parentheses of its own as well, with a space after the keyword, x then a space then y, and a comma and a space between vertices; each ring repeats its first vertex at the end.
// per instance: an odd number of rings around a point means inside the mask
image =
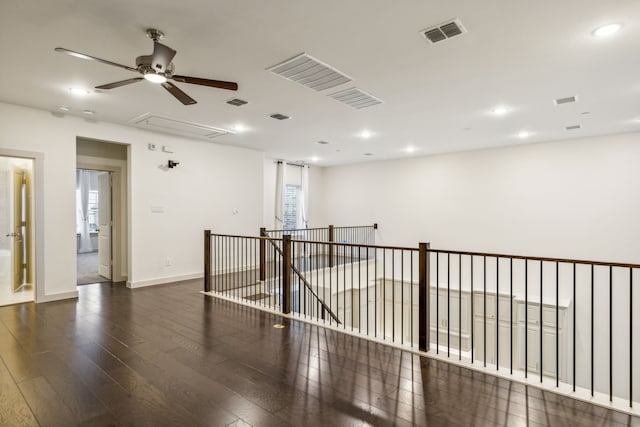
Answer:
POLYGON ((0 103, 0 147, 44 157, 44 224, 36 224, 44 230, 41 301, 76 291, 77 137, 130 146, 131 286, 201 276, 206 228, 253 233, 260 227, 261 152, 0 103), (149 151, 149 142, 160 149, 149 151), (162 152, 163 145, 175 153, 162 152), (167 169, 168 159, 180 165, 167 169))

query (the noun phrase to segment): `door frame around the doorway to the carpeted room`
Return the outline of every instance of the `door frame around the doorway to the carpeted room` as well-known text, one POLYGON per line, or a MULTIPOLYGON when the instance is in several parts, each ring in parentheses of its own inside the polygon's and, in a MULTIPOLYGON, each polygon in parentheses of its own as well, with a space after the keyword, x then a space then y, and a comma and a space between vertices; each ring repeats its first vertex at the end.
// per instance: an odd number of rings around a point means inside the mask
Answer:
MULTIPOLYGON (((128 272, 131 265, 127 265, 125 269, 122 262, 122 248, 129 248, 128 240, 130 229, 125 226, 124 222, 128 220, 129 206, 127 206, 127 214, 122 215, 122 206, 126 202, 126 194, 122 193, 122 180, 126 176, 126 166, 116 166, 107 163, 108 159, 92 158, 89 156, 78 156, 76 160, 76 169, 89 169, 104 172, 111 172, 111 220, 113 226, 111 228, 111 280, 121 282, 127 280, 128 272), (124 169, 124 171, 123 171, 124 169), (127 236, 122 236, 122 230, 126 228, 127 236), (125 240, 123 242, 123 239, 125 240), (124 246, 126 244, 126 246, 124 246)), ((125 191, 128 191, 127 185, 125 191)), ((129 255, 127 255, 129 256, 129 255)))

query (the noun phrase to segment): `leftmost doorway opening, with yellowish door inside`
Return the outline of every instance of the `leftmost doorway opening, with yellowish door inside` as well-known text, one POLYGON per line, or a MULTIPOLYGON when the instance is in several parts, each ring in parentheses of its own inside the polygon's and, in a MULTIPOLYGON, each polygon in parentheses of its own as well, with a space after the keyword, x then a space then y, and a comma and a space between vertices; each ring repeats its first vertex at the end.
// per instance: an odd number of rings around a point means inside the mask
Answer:
POLYGON ((0 156, 0 305, 35 299, 33 166, 0 156))

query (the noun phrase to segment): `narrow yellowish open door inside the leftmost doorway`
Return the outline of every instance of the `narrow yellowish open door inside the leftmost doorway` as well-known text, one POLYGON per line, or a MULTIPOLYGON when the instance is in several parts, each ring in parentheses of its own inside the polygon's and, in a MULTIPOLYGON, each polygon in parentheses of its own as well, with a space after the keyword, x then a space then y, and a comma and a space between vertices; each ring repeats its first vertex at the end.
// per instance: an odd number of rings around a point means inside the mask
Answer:
POLYGON ((25 171, 13 170, 13 290, 17 291, 24 285, 26 268, 25 238, 23 230, 25 221, 25 171))

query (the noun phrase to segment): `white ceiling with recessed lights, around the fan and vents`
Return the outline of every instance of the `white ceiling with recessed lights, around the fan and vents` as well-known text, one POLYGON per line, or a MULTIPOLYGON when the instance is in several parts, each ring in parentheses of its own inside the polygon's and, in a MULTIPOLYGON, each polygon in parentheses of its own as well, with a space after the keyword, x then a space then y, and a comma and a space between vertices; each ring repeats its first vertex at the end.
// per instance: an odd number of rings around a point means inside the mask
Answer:
POLYGON ((319 165, 630 132, 640 129, 639 23, 637 0, 3 0, 0 101, 121 124, 145 113, 240 123, 245 132, 215 142, 319 165), (468 32, 436 45, 421 36, 452 18, 468 32), (591 35, 612 22, 623 29, 591 35), (177 83, 192 106, 146 81, 70 93, 137 75, 55 47, 135 67, 152 50, 146 28, 178 51, 176 74, 236 81, 238 92, 177 83), (316 92, 266 71, 303 52, 354 81, 316 92), (326 96, 353 86, 383 103, 355 110, 326 96), (575 104, 553 103, 572 95, 575 104), (232 97, 249 104, 226 104, 232 97), (509 113, 493 115, 498 105, 509 113))

